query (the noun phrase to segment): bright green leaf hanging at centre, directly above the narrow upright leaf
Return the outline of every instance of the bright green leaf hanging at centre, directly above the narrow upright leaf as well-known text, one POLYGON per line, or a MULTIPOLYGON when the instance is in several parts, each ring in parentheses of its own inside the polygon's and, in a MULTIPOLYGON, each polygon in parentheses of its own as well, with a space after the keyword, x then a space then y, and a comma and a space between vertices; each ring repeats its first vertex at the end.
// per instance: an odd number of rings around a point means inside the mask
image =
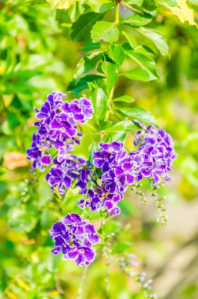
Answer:
POLYGON ((108 96, 118 79, 118 69, 115 63, 104 61, 102 64, 102 70, 107 78, 107 93, 108 96))

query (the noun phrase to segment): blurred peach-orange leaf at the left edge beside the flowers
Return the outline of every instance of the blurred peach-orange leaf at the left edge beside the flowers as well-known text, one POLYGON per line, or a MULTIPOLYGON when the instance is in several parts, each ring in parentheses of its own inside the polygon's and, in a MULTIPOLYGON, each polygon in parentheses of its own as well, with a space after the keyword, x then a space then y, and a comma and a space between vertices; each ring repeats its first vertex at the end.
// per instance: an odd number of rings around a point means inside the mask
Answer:
POLYGON ((17 167, 25 167, 28 165, 28 160, 22 152, 12 151, 5 152, 3 155, 3 167, 13 170, 17 167))

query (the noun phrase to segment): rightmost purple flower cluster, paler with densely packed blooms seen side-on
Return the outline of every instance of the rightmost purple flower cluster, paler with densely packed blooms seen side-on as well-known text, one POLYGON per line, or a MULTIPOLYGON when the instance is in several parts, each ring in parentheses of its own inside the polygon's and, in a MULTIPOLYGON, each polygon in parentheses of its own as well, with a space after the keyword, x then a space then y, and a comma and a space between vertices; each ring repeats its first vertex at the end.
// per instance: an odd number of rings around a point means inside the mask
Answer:
POLYGON ((170 134, 156 126, 144 127, 142 131, 137 132, 134 145, 138 149, 131 152, 130 156, 134 159, 142 157, 137 168, 139 179, 153 177, 154 184, 159 183, 161 178, 172 180, 169 172, 172 170, 171 166, 177 154, 170 134))

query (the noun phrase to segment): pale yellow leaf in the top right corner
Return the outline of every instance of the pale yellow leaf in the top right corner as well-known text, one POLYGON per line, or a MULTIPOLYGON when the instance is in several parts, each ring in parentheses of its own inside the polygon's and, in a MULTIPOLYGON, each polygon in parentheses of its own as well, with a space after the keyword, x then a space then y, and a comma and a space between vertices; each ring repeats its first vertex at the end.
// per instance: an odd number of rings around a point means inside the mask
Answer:
POLYGON ((185 22, 188 21, 190 25, 196 25, 198 28, 198 24, 195 22, 194 20, 194 11, 193 9, 189 8, 189 6, 187 5, 187 0, 177 0, 179 7, 174 6, 174 7, 170 7, 169 9, 171 10, 171 13, 177 15, 179 17, 179 19, 181 20, 181 22, 185 22))

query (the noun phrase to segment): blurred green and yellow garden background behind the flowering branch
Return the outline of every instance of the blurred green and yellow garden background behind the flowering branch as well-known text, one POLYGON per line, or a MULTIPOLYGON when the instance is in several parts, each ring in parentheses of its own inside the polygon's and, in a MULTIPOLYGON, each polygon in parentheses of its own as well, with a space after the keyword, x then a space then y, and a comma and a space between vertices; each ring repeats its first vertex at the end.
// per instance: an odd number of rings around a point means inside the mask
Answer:
MULTIPOLYGON (((198 1, 188 5, 198 20, 198 1)), ((32 108, 39 108, 51 91, 66 91, 83 55, 77 50, 81 43, 64 38, 48 4, 29 6, 16 1, 4 7, 0 1, 0 9, 0 298, 75 299, 83 269, 51 255, 48 230, 67 212, 79 212, 79 195, 73 190, 59 205, 49 201, 44 175, 29 198, 22 201, 20 194, 26 187, 24 179, 34 179, 25 157, 35 130, 32 108)), ((130 14, 121 10, 121 19, 130 14)), ((113 18, 114 10, 106 17, 113 18)), ((121 214, 107 229, 122 229, 119 242, 138 255, 142 262, 138 271, 154 278, 153 290, 159 298, 198 299, 198 29, 163 9, 149 25, 167 37, 171 60, 156 56, 161 80, 147 83, 121 77, 115 97, 132 96, 136 100, 132 105, 151 111, 174 139, 178 153, 171 174, 174 181, 160 190, 167 196, 168 228, 156 223, 158 213, 148 186, 144 188, 148 205, 142 206, 136 195, 127 192, 121 214)), ((135 30, 131 32, 143 40, 135 30)), ((156 50, 152 43, 149 46, 156 50)), ((122 70, 132 63, 126 60, 122 70)), ((84 93, 90 96, 89 90, 84 93)), ((84 128, 84 132, 89 131, 84 128)), ((84 139, 76 153, 88 157, 91 141, 84 139)), ((132 136, 127 143, 132 145, 132 136)), ((99 228, 98 216, 90 215, 99 228)), ((98 251, 87 272, 83 298, 145 298, 114 264, 110 265, 107 293, 105 264, 98 251)))

